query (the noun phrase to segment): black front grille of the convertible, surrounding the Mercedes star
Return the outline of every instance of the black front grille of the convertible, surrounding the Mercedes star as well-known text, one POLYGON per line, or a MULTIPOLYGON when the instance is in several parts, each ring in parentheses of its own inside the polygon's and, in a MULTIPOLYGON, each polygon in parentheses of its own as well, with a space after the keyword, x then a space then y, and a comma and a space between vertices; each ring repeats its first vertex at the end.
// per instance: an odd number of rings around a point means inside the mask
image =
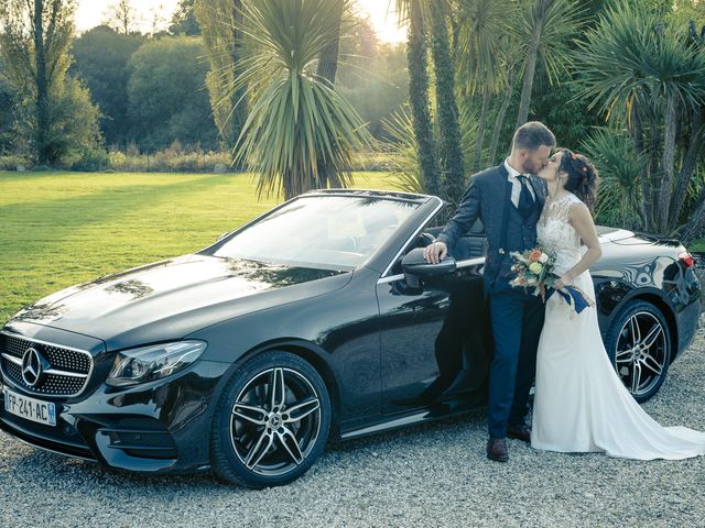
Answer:
POLYGON ((86 387, 93 370, 90 353, 18 336, 0 333, 0 369, 13 383, 29 393, 44 396, 76 396, 86 387), (34 385, 22 376, 26 351, 36 350, 44 369, 34 385))

